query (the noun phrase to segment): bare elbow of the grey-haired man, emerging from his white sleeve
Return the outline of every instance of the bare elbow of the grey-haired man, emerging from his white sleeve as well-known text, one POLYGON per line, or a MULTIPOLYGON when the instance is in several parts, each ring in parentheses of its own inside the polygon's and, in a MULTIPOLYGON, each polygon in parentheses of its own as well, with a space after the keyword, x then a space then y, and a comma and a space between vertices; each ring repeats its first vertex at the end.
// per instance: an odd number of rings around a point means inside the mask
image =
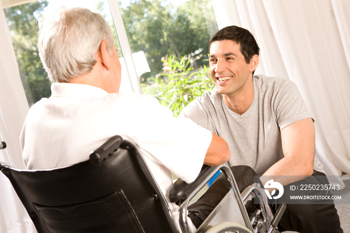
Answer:
POLYGON ((217 166, 231 158, 227 142, 212 132, 212 138, 204 157, 204 164, 217 166))

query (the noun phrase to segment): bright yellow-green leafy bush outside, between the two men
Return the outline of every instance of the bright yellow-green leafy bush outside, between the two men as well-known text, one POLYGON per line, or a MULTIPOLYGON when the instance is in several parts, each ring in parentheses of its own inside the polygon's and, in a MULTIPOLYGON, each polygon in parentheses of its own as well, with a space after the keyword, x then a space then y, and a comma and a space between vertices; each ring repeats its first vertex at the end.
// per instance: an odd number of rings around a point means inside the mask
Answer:
POLYGON ((182 56, 177 60, 169 55, 163 58, 162 62, 163 72, 152 77, 148 84, 142 84, 142 90, 170 108, 174 116, 197 96, 214 87, 208 78, 208 68, 203 65, 194 70, 191 65, 193 58, 182 56))

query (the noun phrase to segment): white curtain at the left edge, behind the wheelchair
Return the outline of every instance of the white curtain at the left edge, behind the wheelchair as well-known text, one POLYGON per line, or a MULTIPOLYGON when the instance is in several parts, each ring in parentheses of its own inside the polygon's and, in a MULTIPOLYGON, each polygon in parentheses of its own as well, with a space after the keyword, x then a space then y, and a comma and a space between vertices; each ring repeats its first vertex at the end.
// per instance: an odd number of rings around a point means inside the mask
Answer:
MULTIPOLYGON (((28 111, 16 58, 0 1, 0 161, 24 168, 19 133, 28 111)), ((0 173, 0 232, 36 232, 9 180, 0 173)))

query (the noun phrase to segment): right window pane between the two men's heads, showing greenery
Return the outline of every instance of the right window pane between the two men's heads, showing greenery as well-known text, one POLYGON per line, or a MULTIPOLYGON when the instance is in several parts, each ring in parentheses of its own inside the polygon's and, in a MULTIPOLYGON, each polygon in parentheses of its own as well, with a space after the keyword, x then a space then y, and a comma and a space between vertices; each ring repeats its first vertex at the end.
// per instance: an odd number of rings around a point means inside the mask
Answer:
POLYGON ((143 52, 149 66, 140 75, 143 93, 177 116, 213 87, 208 40, 218 28, 211 0, 121 0, 120 11, 131 51, 143 52))

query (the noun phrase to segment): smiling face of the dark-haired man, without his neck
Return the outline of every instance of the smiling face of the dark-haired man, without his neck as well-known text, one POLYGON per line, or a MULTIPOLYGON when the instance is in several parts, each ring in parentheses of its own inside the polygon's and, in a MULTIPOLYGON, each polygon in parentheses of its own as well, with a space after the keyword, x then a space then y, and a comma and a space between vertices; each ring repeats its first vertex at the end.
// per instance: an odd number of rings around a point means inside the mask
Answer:
POLYGON ((253 67, 252 60, 248 64, 245 63, 239 45, 232 40, 212 42, 209 51, 209 73, 217 93, 231 96, 244 91, 256 67, 253 67))

